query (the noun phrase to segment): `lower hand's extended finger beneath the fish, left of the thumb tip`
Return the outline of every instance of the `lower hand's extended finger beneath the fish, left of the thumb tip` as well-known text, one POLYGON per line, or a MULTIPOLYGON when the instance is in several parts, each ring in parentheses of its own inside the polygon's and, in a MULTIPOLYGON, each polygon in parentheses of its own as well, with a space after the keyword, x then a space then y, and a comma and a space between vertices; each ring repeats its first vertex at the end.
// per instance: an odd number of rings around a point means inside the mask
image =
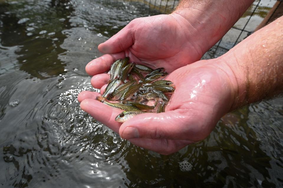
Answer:
POLYGON ((90 114, 94 119, 118 133, 121 123, 116 122, 115 118, 122 112, 121 110, 111 108, 95 99, 83 100, 80 103, 80 108, 90 114))

